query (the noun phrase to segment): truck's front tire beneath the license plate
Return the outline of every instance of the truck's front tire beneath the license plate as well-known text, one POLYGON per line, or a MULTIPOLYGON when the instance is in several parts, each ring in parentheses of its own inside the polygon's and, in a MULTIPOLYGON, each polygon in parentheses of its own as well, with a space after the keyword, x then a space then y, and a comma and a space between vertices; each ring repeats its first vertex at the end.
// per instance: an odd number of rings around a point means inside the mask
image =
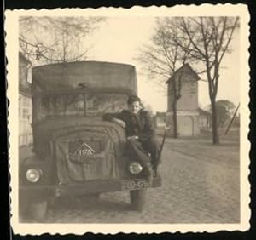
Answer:
POLYGON ((131 190, 131 208, 136 211, 143 211, 146 203, 147 189, 131 190))

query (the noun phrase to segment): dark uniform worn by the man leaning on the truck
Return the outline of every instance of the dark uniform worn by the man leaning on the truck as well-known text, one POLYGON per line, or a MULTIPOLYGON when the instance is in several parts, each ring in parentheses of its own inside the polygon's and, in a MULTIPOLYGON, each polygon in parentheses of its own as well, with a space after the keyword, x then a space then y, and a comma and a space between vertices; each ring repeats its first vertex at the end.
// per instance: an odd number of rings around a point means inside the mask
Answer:
POLYGON ((137 140, 128 140, 130 143, 128 145, 129 153, 133 154, 143 166, 152 163, 155 169, 159 160, 159 147, 155 139, 152 117, 150 117, 148 111, 140 110, 137 114, 127 110, 119 113, 107 113, 103 116, 103 120, 111 121, 113 117, 125 122, 127 137, 138 137, 137 140), (150 153, 151 157, 148 157, 148 153, 150 153))

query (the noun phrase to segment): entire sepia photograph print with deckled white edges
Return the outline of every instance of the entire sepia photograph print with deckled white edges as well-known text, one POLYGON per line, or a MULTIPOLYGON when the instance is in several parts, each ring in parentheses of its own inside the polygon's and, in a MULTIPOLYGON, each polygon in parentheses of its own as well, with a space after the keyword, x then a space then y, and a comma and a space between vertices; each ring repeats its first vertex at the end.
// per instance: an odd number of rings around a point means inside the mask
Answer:
POLYGON ((6 17, 14 230, 249 227, 245 6, 6 17))

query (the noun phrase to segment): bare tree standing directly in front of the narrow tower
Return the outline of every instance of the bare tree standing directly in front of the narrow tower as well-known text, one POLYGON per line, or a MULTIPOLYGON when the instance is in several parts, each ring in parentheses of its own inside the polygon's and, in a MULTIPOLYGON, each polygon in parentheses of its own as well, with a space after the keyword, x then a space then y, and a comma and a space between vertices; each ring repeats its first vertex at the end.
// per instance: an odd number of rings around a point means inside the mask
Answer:
MULTIPOLYGON (((166 81, 172 78, 177 68, 193 59, 188 51, 177 44, 180 31, 170 25, 170 18, 158 18, 151 44, 139 49, 137 60, 143 64, 143 70, 160 89, 166 92, 166 81)), ((189 49, 190 42, 184 43, 189 49)), ((183 72, 172 79, 172 123, 173 137, 177 138, 177 101, 181 98, 183 72)))

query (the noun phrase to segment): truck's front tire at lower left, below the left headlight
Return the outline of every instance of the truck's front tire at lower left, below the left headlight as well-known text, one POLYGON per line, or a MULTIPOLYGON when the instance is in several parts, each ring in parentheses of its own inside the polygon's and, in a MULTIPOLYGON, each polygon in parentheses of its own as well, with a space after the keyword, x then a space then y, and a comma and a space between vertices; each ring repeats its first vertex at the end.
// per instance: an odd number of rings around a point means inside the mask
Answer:
POLYGON ((41 200, 34 203, 31 203, 29 206, 29 216, 32 217, 33 220, 44 220, 45 214, 48 209, 48 201, 41 200))

